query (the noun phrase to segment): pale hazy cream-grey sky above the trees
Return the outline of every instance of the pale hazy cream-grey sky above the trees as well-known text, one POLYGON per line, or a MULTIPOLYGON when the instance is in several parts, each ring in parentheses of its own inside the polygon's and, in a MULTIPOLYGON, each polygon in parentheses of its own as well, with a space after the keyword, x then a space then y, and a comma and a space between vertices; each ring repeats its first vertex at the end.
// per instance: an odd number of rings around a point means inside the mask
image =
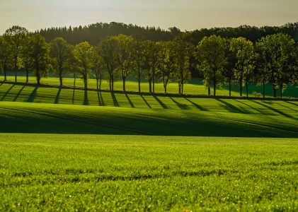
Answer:
POLYGON ((298 21, 298 0, 0 0, 0 34, 91 23, 132 23, 181 30, 298 21))

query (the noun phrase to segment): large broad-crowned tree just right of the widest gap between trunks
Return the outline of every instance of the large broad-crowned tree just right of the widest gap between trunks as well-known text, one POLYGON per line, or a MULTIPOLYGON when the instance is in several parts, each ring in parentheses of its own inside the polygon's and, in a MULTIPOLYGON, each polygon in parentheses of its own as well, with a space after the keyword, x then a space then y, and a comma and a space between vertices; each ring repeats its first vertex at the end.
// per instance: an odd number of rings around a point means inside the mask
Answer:
POLYGON ((211 35, 210 37, 204 37, 199 42, 195 53, 195 57, 200 63, 198 69, 204 73, 205 86, 209 88, 209 95, 211 81, 213 81, 214 97, 216 96, 216 86, 220 83, 221 73, 227 63, 224 45, 222 37, 211 35))

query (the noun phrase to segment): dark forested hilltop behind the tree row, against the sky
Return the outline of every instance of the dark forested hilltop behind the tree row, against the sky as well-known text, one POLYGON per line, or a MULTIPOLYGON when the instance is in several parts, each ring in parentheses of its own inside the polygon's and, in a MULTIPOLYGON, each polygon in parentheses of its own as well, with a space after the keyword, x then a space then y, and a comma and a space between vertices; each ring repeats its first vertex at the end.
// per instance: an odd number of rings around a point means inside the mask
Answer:
POLYGON ((127 25, 124 23, 96 23, 88 26, 79 27, 64 27, 64 28, 47 28, 37 31, 47 42, 50 42, 55 37, 63 37, 72 45, 80 42, 88 41, 91 45, 98 45, 98 42, 107 36, 114 35, 132 35, 142 40, 153 41, 168 41, 180 35, 180 38, 197 45, 203 37, 217 35, 221 37, 245 37, 251 42, 256 42, 261 37, 273 35, 276 33, 285 33, 290 35, 295 42, 298 42, 298 22, 287 23, 282 26, 264 26, 257 28, 255 26, 241 25, 238 28, 203 28, 201 30, 181 32, 178 28, 169 28, 162 30, 155 27, 140 27, 137 25, 127 25))

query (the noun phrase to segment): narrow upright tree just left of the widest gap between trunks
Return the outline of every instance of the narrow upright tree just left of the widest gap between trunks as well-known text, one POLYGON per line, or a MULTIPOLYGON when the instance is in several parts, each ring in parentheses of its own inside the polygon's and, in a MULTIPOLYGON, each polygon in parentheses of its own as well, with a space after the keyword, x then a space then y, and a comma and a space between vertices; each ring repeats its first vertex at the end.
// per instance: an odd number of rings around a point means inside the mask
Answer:
POLYGON ((183 40, 173 41, 174 68, 173 76, 178 81, 179 94, 183 94, 183 86, 191 77, 190 57, 193 54, 193 45, 183 40))

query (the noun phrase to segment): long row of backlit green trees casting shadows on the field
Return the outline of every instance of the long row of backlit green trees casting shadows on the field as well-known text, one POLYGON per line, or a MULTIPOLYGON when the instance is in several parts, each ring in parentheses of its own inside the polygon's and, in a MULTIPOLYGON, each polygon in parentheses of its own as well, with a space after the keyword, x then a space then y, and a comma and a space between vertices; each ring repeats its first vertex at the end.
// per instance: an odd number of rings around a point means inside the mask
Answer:
POLYGON ((277 88, 282 90, 288 83, 297 83, 298 50, 294 40, 286 34, 277 33, 262 37, 255 44, 244 37, 223 38, 216 35, 204 37, 195 47, 185 42, 180 36, 171 41, 154 42, 139 40, 130 35, 108 36, 93 46, 88 42, 70 45, 62 37, 55 37, 49 44, 40 34, 29 34, 25 28, 13 26, 0 37, 0 67, 6 81, 7 70, 15 71, 17 81, 18 69, 24 69, 27 76, 33 71, 38 84, 48 71, 59 76, 63 85, 65 73, 74 73, 84 80, 88 88, 88 78, 95 75, 97 88, 101 89, 104 76, 108 79, 110 90, 114 82, 122 78, 123 90, 127 76, 134 76, 139 82, 146 75, 149 91, 154 93, 154 85, 161 81, 164 92, 168 83, 178 83, 179 93, 190 77, 190 66, 204 76, 205 86, 211 95, 211 87, 216 95, 217 85, 239 84, 240 95, 243 85, 256 82, 263 85, 273 83, 274 95, 277 88))

